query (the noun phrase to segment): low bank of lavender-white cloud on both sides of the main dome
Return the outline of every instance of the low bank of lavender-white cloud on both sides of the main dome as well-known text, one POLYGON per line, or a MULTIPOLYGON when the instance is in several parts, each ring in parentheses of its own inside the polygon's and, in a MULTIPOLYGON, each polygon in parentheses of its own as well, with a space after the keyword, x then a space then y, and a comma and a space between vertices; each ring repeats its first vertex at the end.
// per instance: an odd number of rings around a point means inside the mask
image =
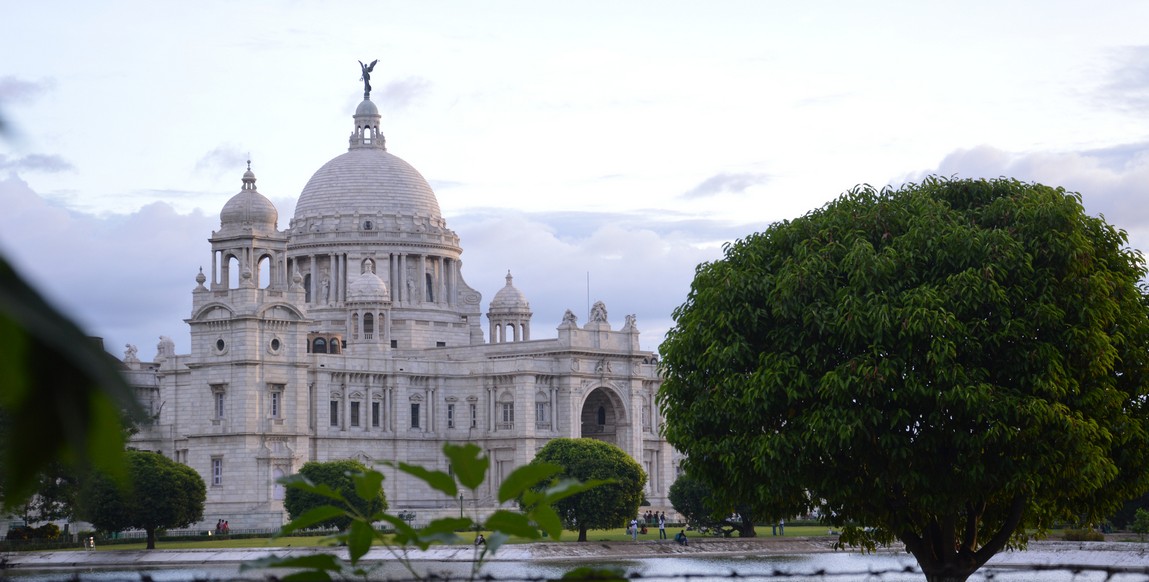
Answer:
MULTIPOLYGON (((276 202, 283 226, 291 201, 276 202)), ((151 357, 160 335, 186 349, 183 319, 198 269, 210 270, 214 212, 180 214, 165 202, 126 215, 78 212, 16 177, 0 180, 0 204, 8 209, 0 217, 6 255, 88 333, 105 337, 109 351, 134 343, 151 357)), ((720 255, 662 218, 483 210, 448 225, 462 239, 463 276, 483 293, 484 310, 510 270, 534 312, 532 336, 553 337, 566 309, 586 320, 589 276, 589 302, 603 301, 616 327, 635 313, 642 347, 653 350, 686 298, 695 265, 720 255)), ((705 238, 731 228, 693 226, 705 238)))

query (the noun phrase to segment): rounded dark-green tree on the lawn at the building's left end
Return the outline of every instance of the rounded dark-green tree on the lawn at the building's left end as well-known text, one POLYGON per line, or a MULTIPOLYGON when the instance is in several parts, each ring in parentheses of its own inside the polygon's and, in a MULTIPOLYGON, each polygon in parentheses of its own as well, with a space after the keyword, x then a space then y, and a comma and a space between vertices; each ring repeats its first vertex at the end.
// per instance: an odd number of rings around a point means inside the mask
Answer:
POLYGON ((129 484, 93 474, 80 491, 80 515, 98 529, 142 529, 155 549, 157 529, 203 519, 207 488, 192 467, 148 451, 126 451, 129 484))

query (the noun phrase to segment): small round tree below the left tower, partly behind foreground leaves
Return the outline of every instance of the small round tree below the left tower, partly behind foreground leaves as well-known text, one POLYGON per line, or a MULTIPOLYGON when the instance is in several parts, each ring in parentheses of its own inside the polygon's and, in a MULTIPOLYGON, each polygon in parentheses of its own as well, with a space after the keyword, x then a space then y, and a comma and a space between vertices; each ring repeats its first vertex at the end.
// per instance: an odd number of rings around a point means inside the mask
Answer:
MULTIPOLYGON (((338 491, 347 503, 355 507, 362 515, 375 515, 387 509, 387 498, 384 496, 383 486, 377 483, 377 491, 357 491, 354 476, 368 472, 367 465, 354 459, 340 459, 327 461, 308 461, 299 470, 299 474, 315 486, 326 486, 338 491)), ((331 498, 311 492, 303 488, 288 488, 284 497, 284 509, 291 519, 298 519, 310 510, 331 504, 331 498)), ((336 528, 347 529, 352 523, 352 518, 345 514, 332 515, 329 519, 317 521, 309 528, 336 528)))

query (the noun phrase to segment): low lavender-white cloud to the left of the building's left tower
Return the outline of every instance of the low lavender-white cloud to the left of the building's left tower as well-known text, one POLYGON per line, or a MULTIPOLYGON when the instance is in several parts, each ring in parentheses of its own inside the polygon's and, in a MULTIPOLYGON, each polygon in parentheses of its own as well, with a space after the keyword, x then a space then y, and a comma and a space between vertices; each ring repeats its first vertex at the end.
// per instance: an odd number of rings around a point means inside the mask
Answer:
MULTIPOLYGON (((148 352, 161 334, 187 346, 196 267, 215 218, 162 202, 130 215, 57 207, 16 177, 0 180, 0 246, 16 269, 106 346, 148 352), (148 347, 145 348, 144 346, 148 347)), ((209 263, 210 265, 210 263, 209 263)))

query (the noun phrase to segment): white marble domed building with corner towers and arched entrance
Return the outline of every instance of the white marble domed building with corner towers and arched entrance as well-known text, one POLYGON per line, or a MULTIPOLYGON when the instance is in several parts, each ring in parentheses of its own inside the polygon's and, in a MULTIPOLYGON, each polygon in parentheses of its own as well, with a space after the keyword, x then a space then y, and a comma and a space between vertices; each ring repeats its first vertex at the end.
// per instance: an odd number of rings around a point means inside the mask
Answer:
MULTIPOLYGON (((615 443, 646 468, 669 509, 672 449, 658 435, 654 354, 633 316, 614 328, 595 304, 557 337, 531 339, 531 306, 507 273, 487 306, 463 280, 458 236, 426 180, 390 154, 364 94, 350 147, 303 187, 295 217, 248 168, 195 277, 191 354, 161 339, 154 362, 124 363, 156 422, 132 439, 203 476, 205 523, 283 523, 276 479, 309 460, 399 460, 449 470, 445 442, 473 442, 492 475, 470 507, 492 509, 503 475, 548 440, 615 443)), ((458 511, 404 475, 384 482, 393 511, 458 511)))

